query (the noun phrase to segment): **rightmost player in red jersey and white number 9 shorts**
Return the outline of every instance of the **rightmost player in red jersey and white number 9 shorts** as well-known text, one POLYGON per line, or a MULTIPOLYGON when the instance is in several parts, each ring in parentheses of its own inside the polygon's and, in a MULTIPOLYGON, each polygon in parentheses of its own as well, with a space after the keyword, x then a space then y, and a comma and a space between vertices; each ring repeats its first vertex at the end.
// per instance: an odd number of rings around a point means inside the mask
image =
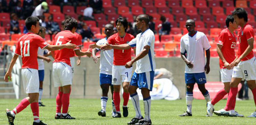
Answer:
MULTIPOLYGON (((243 117, 244 115, 234 111, 236 106, 236 96, 238 93, 238 84, 241 80, 246 80, 249 88, 252 91, 254 103, 256 105, 256 61, 253 55, 253 39, 254 33, 251 25, 247 23, 247 12, 243 8, 236 8, 232 15, 238 25, 241 26, 238 30, 239 49, 237 58, 230 64, 233 65, 232 78, 230 82, 230 91, 227 99, 225 111, 229 112, 229 116, 243 117)), ((248 117, 256 117, 256 111, 248 117)))

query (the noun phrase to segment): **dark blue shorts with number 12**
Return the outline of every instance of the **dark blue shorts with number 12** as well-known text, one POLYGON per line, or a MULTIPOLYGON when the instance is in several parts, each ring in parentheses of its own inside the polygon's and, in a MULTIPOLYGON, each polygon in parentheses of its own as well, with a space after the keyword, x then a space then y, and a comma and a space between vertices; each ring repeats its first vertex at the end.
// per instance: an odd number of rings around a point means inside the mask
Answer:
POLYGON ((185 73, 185 82, 186 84, 204 84, 206 83, 205 73, 185 73))

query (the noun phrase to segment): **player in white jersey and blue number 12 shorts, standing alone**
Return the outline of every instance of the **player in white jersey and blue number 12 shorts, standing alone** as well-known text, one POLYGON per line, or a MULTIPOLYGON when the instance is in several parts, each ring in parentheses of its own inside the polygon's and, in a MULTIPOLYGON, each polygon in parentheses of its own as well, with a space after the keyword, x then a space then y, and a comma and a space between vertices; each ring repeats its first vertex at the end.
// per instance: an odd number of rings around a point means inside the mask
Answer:
MULTIPOLYGON (((210 44, 204 33, 195 30, 195 21, 188 19, 186 21, 186 28, 188 33, 180 40, 181 58, 185 61, 185 83, 186 91, 186 105, 187 111, 180 116, 192 116, 192 101, 193 89, 195 83, 202 92, 206 103, 210 102, 209 92, 205 88, 206 77, 205 73, 210 72, 210 44), (206 50, 206 64, 204 60, 204 50, 206 50)), ((207 106, 207 110, 214 110, 207 106)), ((208 113, 207 113, 208 114, 208 113)), ((209 115, 209 114, 208 114, 209 115)))

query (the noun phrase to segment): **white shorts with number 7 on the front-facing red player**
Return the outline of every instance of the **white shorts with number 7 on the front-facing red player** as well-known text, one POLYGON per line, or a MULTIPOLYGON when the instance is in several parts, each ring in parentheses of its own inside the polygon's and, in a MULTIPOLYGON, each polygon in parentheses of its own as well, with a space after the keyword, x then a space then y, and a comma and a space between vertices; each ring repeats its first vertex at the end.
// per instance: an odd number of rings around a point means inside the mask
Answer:
POLYGON ((133 68, 125 68, 125 66, 112 67, 112 84, 121 85, 122 82, 131 82, 133 68))

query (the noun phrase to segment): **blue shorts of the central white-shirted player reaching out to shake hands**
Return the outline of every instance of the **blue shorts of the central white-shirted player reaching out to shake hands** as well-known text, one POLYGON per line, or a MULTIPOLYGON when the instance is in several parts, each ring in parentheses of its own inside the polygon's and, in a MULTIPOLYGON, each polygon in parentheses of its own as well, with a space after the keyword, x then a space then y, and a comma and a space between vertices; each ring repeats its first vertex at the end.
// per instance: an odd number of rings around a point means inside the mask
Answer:
POLYGON ((133 73, 130 85, 137 86, 139 89, 147 88, 152 91, 155 71, 145 73, 133 73))

